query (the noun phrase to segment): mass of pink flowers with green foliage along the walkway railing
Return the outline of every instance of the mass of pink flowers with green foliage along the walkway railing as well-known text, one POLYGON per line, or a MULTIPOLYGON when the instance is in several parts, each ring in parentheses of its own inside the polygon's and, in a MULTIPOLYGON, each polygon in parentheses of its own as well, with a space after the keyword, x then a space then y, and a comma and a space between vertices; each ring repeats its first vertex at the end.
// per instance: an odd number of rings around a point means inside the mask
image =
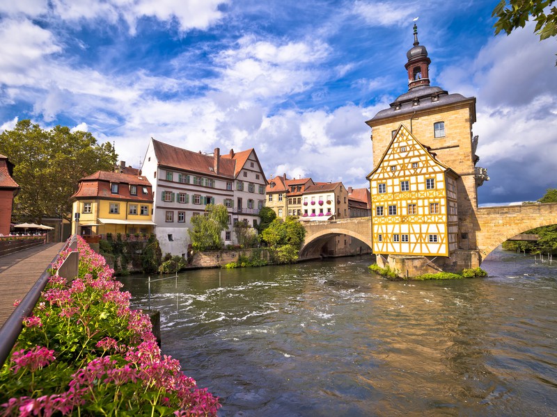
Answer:
POLYGON ((161 354, 104 258, 77 247, 78 277, 50 277, 0 370, 0 415, 215 416, 218 399, 161 354))

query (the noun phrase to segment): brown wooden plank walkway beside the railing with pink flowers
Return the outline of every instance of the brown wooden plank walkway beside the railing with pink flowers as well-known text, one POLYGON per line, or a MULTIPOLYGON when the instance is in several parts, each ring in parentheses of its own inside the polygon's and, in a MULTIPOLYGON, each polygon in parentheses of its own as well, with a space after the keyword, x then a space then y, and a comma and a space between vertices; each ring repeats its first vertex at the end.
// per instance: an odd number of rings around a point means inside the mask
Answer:
POLYGON ((22 300, 64 243, 47 243, 0 257, 0 327, 8 320, 15 300, 22 300))

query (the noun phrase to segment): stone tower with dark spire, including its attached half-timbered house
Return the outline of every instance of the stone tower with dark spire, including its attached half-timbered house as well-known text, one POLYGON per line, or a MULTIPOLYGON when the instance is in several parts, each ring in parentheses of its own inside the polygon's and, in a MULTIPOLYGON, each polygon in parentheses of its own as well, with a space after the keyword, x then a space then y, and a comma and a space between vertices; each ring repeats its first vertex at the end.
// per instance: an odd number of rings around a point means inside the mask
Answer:
POLYGON ((431 60, 418 42, 416 25, 407 58, 408 92, 366 122, 372 128, 375 167, 368 176, 374 252, 450 256, 460 250, 467 251, 459 256, 469 265, 478 264, 476 188, 489 178, 485 169, 476 167, 476 98, 430 85, 431 60), (407 184, 414 188, 407 189, 407 184), (416 214, 409 214, 414 204, 416 214), (396 206, 391 209, 396 214, 389 215, 389 206, 396 206), (414 236, 415 244, 400 241, 402 235, 414 236))

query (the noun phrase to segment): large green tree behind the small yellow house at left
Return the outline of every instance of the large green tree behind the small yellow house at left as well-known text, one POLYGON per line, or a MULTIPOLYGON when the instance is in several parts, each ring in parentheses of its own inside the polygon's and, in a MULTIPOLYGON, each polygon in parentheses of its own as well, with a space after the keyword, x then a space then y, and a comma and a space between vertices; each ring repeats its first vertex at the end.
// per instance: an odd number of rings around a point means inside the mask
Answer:
POLYGON ((109 142, 98 144, 89 132, 65 126, 43 130, 30 120, 0 134, 0 154, 15 164, 13 178, 21 187, 14 217, 33 222, 45 216, 69 219, 77 181, 98 170, 112 171, 118 157, 109 142))

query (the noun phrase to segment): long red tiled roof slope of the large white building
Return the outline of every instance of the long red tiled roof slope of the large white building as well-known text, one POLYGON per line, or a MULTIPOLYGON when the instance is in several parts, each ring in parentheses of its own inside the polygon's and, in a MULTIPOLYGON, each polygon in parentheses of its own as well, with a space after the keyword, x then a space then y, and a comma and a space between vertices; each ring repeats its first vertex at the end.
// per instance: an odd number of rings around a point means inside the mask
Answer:
MULTIPOLYGON (((191 172, 199 172, 205 175, 217 175, 214 172, 214 156, 199 152, 191 152, 187 149, 168 145, 158 140, 152 140, 155 155, 159 165, 178 168, 191 172)), ((221 156, 219 158, 219 173, 221 177, 235 177, 235 160, 221 156)))

